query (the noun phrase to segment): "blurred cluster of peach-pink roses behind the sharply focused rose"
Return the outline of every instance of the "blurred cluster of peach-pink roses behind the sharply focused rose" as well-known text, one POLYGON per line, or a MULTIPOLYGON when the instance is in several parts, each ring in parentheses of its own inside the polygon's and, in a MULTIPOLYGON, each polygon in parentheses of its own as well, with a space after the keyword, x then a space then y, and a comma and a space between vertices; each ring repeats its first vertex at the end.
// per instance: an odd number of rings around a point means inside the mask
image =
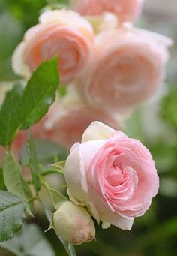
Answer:
POLYGON ((50 140, 70 147, 94 120, 118 128, 118 113, 156 92, 172 41, 133 27, 142 2, 73 0, 73 10, 45 11, 28 29, 13 53, 13 71, 28 79, 58 54, 61 83, 68 88, 45 124, 40 122, 45 138, 50 134, 50 140))

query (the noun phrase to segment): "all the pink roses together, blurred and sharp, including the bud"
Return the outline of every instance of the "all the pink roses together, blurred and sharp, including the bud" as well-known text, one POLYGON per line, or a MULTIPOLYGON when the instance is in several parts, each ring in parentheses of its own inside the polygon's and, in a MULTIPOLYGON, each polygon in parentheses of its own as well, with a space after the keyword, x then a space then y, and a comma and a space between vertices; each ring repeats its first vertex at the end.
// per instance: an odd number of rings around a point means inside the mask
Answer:
MULTIPOLYGON (((80 244, 95 237, 91 215, 104 228, 113 224, 130 230, 157 194, 151 154, 139 140, 116 131, 117 113, 154 94, 163 82, 172 41, 130 23, 142 0, 73 0, 71 7, 74 11, 41 14, 12 62, 13 70, 28 79, 58 54, 61 83, 68 93, 57 98, 32 132, 68 147, 77 142, 65 164, 72 202, 55 212, 53 227, 68 242, 80 244)), ((25 140, 21 132, 12 149, 17 152, 25 140)))

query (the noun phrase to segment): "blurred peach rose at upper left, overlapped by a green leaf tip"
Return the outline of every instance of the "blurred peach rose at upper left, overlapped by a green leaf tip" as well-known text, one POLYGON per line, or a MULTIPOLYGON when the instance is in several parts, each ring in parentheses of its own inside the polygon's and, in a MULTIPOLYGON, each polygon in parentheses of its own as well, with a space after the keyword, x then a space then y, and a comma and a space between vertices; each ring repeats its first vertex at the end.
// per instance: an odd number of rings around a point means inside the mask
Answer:
POLYGON ((66 10, 46 11, 39 21, 13 53, 13 71, 29 77, 42 62, 58 54, 61 83, 70 83, 92 59, 92 26, 80 14, 66 10))

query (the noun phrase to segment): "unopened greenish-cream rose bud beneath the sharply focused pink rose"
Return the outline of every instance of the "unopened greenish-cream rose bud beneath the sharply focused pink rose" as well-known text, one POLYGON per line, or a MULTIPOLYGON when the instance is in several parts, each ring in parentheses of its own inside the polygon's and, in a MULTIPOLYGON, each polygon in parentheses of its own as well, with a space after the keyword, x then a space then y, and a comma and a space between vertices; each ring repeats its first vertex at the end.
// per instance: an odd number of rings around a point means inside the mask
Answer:
POLYGON ((74 245, 95 238, 95 224, 83 206, 66 202, 53 215, 53 227, 58 236, 74 245))

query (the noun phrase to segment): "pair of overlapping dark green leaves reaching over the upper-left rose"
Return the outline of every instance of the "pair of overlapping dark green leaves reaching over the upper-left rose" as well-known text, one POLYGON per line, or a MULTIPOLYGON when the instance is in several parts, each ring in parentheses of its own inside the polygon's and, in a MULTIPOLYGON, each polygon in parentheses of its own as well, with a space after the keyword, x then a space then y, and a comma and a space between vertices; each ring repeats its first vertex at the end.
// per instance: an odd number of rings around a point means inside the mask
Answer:
POLYGON ((59 77, 57 59, 44 62, 31 75, 22 93, 15 86, 7 93, 0 110, 0 143, 8 146, 20 129, 28 129, 39 121, 55 101, 59 77), (18 114, 17 114, 18 113, 18 114))

